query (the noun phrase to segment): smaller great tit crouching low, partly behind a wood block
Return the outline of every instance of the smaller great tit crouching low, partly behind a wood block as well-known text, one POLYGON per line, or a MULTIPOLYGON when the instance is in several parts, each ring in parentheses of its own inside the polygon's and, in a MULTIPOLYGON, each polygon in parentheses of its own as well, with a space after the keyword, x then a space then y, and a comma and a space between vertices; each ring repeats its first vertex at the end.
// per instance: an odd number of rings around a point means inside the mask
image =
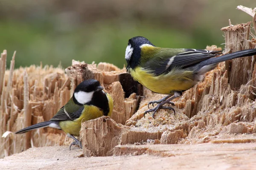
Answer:
POLYGON ((88 79, 76 87, 73 96, 52 119, 21 129, 16 134, 42 127, 53 127, 63 130, 68 137, 75 140, 70 144, 70 149, 72 145, 79 145, 82 148, 81 142, 74 137, 79 136, 81 122, 103 115, 111 116, 112 111, 112 97, 103 91, 99 81, 88 79))

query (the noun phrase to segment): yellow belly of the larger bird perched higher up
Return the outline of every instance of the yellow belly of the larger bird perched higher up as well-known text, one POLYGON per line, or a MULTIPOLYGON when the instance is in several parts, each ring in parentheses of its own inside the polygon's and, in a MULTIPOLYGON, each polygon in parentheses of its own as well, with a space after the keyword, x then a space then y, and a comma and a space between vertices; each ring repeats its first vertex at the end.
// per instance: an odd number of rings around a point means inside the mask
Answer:
POLYGON ((131 76, 149 90, 160 94, 172 94, 173 91, 188 90, 194 85, 192 71, 174 69, 168 74, 153 76, 140 67, 130 68, 131 76))

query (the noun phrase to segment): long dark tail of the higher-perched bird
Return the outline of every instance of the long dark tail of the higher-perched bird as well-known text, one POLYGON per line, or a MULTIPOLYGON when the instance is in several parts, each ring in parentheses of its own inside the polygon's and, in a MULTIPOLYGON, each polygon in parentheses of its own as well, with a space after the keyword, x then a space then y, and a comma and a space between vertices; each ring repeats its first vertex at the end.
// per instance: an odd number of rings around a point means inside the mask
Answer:
POLYGON ((256 55, 256 49, 248 49, 248 50, 242 50, 242 51, 237 51, 234 53, 226 54, 220 57, 215 57, 215 58, 209 58, 207 60, 204 60, 203 62, 200 62, 198 64, 199 67, 204 67, 204 65, 212 65, 212 64, 217 64, 219 62, 224 62, 229 59, 235 59, 239 57, 248 57, 248 56, 253 56, 256 55))

